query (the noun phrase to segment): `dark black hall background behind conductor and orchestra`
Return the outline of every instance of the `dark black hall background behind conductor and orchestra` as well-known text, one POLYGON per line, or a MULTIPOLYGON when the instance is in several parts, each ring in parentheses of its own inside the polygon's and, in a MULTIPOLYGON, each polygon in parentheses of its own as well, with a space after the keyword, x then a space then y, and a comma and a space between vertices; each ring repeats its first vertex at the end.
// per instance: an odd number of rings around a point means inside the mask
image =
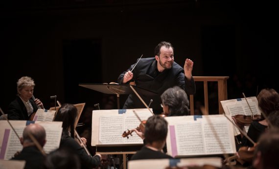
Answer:
MULTIPOLYGON (((45 108, 54 106, 53 95, 86 103, 88 111, 97 103, 117 108, 115 95, 78 84, 117 82, 141 54, 154 57, 161 41, 173 44, 180 65, 193 60, 193 76, 229 76, 228 99, 265 87, 278 91, 276 10, 272 1, 1 0, 0 107, 6 111, 17 80, 30 76, 45 108)), ((196 85, 195 101, 203 102, 202 84, 196 85)), ((209 91, 216 99, 216 84, 209 91)))

